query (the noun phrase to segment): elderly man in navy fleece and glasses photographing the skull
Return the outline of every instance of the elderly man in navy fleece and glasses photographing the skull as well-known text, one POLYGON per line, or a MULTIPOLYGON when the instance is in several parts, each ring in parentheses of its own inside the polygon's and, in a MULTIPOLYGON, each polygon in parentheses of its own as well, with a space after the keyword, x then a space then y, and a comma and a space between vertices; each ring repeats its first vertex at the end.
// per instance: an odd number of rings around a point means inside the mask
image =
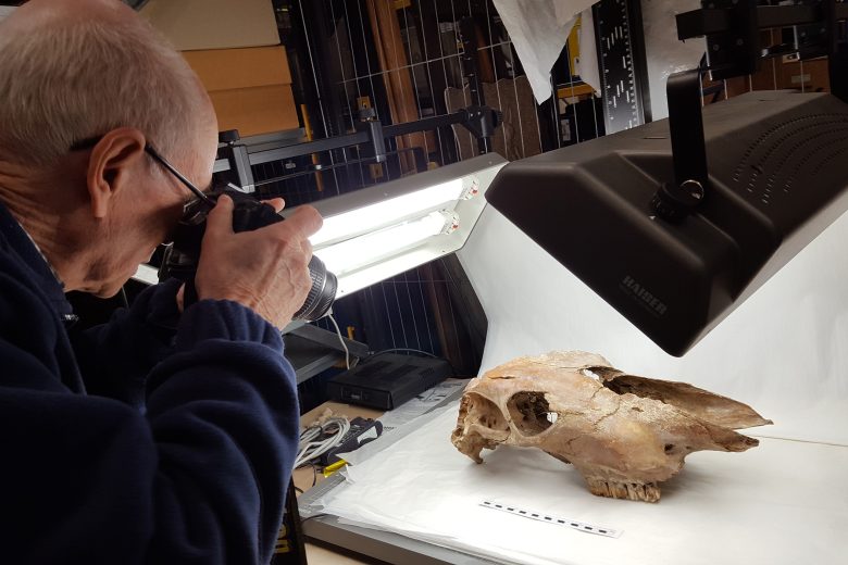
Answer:
POLYGON ((4 563, 271 558, 298 437, 276 328, 304 301, 317 213, 233 234, 222 197, 197 303, 169 281, 66 329, 64 292, 113 296, 191 198, 152 153, 205 187, 216 131, 180 55, 117 0, 0 24, 4 563))

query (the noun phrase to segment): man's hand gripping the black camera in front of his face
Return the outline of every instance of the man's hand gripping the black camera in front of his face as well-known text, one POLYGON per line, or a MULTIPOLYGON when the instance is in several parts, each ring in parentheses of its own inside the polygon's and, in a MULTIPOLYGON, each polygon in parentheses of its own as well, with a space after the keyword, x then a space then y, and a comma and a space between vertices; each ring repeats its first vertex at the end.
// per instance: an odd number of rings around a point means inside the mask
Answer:
MULTIPOLYGON (((266 202, 277 212, 283 201, 266 202)), ((233 200, 221 196, 209 213, 195 277, 199 300, 233 300, 282 328, 307 300, 312 280, 309 236, 322 219, 300 206, 285 222, 253 231, 233 231, 233 200)))

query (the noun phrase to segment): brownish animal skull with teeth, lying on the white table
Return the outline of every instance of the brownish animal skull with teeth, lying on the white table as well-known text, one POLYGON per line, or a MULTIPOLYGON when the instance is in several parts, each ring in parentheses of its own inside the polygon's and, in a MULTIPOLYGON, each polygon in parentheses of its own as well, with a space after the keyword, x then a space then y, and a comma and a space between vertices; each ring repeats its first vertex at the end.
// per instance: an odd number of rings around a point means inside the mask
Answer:
POLYGON ((733 431, 771 424, 685 382, 622 373, 581 351, 519 357, 472 380, 451 441, 483 463, 500 443, 535 447, 581 472, 593 494, 657 502, 659 484, 700 450, 745 451, 733 431))

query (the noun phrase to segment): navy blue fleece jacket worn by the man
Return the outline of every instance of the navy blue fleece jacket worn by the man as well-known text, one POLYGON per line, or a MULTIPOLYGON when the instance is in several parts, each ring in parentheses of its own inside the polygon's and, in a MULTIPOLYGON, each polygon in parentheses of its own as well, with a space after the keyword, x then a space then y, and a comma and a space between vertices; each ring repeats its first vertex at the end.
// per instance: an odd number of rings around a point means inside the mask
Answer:
POLYGON ((298 436, 274 327, 147 289, 85 334, 0 205, 0 562, 266 563, 298 436))

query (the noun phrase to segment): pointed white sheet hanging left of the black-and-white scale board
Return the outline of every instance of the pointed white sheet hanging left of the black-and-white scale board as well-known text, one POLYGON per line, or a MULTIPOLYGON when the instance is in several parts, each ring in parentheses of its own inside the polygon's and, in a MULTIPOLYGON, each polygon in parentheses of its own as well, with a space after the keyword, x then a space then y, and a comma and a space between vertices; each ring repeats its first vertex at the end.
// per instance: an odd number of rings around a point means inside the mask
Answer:
POLYGON ((550 98, 550 70, 569 40, 576 16, 595 0, 494 0, 510 34, 536 101, 550 98))

